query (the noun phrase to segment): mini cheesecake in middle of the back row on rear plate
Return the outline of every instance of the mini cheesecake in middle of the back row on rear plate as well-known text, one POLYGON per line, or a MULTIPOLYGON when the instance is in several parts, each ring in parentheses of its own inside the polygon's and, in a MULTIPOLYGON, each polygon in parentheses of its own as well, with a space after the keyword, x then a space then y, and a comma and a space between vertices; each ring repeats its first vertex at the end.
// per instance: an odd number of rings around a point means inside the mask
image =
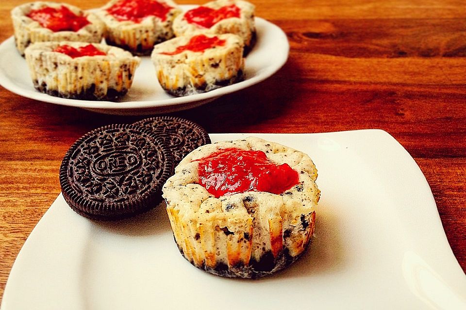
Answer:
POLYGON ((155 44, 172 38, 180 13, 171 0, 112 0, 96 11, 107 27, 107 44, 135 55, 149 55, 155 44))

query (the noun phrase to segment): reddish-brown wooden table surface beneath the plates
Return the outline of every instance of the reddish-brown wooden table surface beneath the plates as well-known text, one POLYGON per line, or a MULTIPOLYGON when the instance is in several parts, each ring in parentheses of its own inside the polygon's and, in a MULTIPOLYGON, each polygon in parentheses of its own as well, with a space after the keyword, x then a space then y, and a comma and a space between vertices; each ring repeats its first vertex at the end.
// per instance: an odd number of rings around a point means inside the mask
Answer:
MULTIPOLYGON (((1 0, 0 41, 13 34, 10 10, 23 2, 1 0)), ((105 3, 67 2, 85 9, 105 3)), ((256 86, 172 115, 210 133, 387 131, 424 172, 466 270, 464 0, 253 2, 257 16, 286 32, 288 62, 256 86)), ((0 87, 0 295, 21 246, 60 192, 58 169, 70 145, 101 125, 141 118, 46 104, 0 87)))

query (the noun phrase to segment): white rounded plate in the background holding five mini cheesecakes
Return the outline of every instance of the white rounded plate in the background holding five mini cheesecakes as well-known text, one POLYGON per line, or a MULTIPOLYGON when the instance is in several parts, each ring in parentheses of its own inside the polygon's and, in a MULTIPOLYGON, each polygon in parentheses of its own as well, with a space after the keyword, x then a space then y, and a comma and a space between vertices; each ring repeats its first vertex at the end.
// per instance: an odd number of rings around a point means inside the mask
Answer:
MULTIPOLYGON (((182 6, 188 9, 191 6, 182 6)), ((257 42, 246 57, 242 82, 221 87, 208 93, 173 97, 159 85, 149 56, 141 57, 133 86, 118 102, 64 99, 39 93, 33 87, 26 61, 15 47, 14 37, 0 45, 0 85, 23 97, 63 106, 79 107, 107 114, 144 115, 190 109, 257 84, 273 75, 288 59, 289 44, 286 34, 276 25, 256 17, 257 42)))

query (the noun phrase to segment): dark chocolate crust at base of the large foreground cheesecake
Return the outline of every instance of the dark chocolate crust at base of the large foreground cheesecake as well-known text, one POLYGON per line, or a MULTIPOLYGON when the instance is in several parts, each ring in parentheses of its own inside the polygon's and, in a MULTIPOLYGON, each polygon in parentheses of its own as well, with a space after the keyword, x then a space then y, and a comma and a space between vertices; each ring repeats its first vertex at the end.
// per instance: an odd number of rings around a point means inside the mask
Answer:
POLYGON ((309 248, 311 240, 306 245, 306 249, 297 256, 291 256, 287 248, 283 248, 282 252, 274 258, 271 251, 264 253, 259 261, 252 260, 249 265, 240 263, 236 266, 229 267, 224 263, 217 263, 215 268, 211 268, 202 264, 201 266, 196 265, 184 256, 183 248, 178 245, 175 239, 175 243, 180 250, 183 257, 191 263, 193 266, 211 273, 216 276, 226 278, 244 278, 244 279, 259 279, 262 277, 270 276, 284 268, 288 267, 292 263, 296 262, 309 248))

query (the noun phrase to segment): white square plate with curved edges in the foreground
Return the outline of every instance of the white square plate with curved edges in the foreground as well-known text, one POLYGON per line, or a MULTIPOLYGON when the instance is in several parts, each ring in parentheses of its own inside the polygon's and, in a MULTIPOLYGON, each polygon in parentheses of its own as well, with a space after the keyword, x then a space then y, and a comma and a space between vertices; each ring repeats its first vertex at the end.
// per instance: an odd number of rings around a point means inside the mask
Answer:
POLYGON ((58 196, 21 249, 2 301, 19 309, 466 309, 466 276, 413 158, 381 130, 257 136, 314 160, 322 191, 306 254, 259 280, 184 260, 164 208, 91 221, 58 196))

